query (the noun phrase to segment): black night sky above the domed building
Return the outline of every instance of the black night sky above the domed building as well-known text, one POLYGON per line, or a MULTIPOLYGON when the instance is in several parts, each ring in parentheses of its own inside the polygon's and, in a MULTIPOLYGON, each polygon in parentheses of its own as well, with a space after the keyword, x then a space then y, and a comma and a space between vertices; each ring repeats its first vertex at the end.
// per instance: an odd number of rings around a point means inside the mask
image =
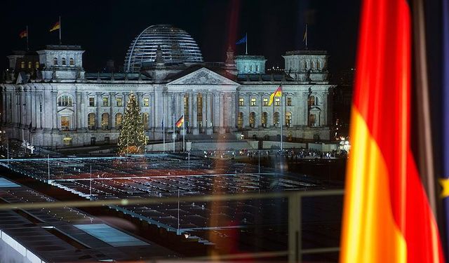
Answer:
MULTIPOLYGON (((229 43, 248 32, 248 53, 265 55, 267 66, 283 66, 281 55, 303 48, 309 22, 309 49, 325 49, 332 69, 354 66, 360 1, 355 0, 161 0, 2 1, 1 69, 11 50, 25 49, 19 33, 29 27, 29 47, 58 43, 48 29, 62 17, 62 43, 85 50, 84 68, 96 72, 112 59, 123 65, 130 42, 149 25, 171 24, 189 32, 206 61, 223 61, 229 43)), ((244 45, 237 46, 239 54, 244 45)))

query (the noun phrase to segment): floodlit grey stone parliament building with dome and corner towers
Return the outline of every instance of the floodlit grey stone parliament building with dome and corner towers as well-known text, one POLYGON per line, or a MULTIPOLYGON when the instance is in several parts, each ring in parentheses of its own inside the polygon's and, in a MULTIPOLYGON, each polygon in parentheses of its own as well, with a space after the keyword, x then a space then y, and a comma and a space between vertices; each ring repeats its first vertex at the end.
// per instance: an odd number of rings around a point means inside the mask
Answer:
POLYGON ((115 142, 133 92, 150 140, 161 140, 162 122, 170 139, 182 114, 191 139, 232 133, 277 138, 281 119, 287 139, 330 139, 333 86, 324 51, 287 52, 285 72, 267 74, 262 55, 234 56, 229 49, 225 62, 203 62, 187 32, 155 25, 130 43, 125 73, 85 72, 83 52, 53 45, 29 57, 8 56, 0 86, 1 123, 10 138, 51 147, 115 142), (281 84, 282 101, 268 106, 281 84))

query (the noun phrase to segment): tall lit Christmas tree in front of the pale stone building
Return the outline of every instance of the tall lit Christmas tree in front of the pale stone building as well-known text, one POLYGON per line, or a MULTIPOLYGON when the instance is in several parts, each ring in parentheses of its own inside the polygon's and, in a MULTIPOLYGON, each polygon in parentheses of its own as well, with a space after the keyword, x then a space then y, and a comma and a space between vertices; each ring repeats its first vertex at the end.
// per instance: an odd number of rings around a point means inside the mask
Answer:
POLYGON ((119 154, 142 154, 145 151, 145 126, 138 101, 130 93, 117 144, 119 154))

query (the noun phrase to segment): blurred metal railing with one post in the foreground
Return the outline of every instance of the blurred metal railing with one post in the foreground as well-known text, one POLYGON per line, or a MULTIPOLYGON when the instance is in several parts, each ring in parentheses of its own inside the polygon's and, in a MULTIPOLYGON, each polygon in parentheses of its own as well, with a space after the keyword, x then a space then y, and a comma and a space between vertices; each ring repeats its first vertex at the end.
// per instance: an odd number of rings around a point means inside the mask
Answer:
POLYGON ((123 198, 123 199, 105 199, 93 201, 57 201, 57 202, 39 202, 39 203, 2 203, 0 210, 14 209, 41 209, 41 208, 85 208, 95 206, 112 205, 154 205, 161 203, 182 202, 211 202, 211 201, 242 201, 251 199, 269 199, 269 198, 287 198, 288 199, 288 250, 274 252, 244 253, 235 255, 219 255, 211 257, 194 257, 194 260, 210 259, 243 259, 243 258, 262 258, 262 257, 280 257, 288 255, 288 262, 302 262, 302 255, 323 254, 328 252, 339 252, 338 247, 328 248, 302 248, 302 198, 317 196, 341 196, 343 189, 332 190, 314 190, 314 191, 283 191, 274 193, 248 193, 248 194, 220 194, 208 196, 183 196, 167 198, 123 198))

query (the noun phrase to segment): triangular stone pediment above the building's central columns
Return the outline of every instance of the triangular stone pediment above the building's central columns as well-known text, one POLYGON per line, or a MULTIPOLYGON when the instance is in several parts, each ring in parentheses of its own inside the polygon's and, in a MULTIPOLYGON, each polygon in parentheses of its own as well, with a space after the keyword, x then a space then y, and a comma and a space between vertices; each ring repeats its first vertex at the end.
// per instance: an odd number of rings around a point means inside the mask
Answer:
POLYGON ((192 73, 182 76, 168 83, 168 85, 232 85, 237 86, 236 83, 224 76, 213 72, 206 67, 202 67, 192 73))

